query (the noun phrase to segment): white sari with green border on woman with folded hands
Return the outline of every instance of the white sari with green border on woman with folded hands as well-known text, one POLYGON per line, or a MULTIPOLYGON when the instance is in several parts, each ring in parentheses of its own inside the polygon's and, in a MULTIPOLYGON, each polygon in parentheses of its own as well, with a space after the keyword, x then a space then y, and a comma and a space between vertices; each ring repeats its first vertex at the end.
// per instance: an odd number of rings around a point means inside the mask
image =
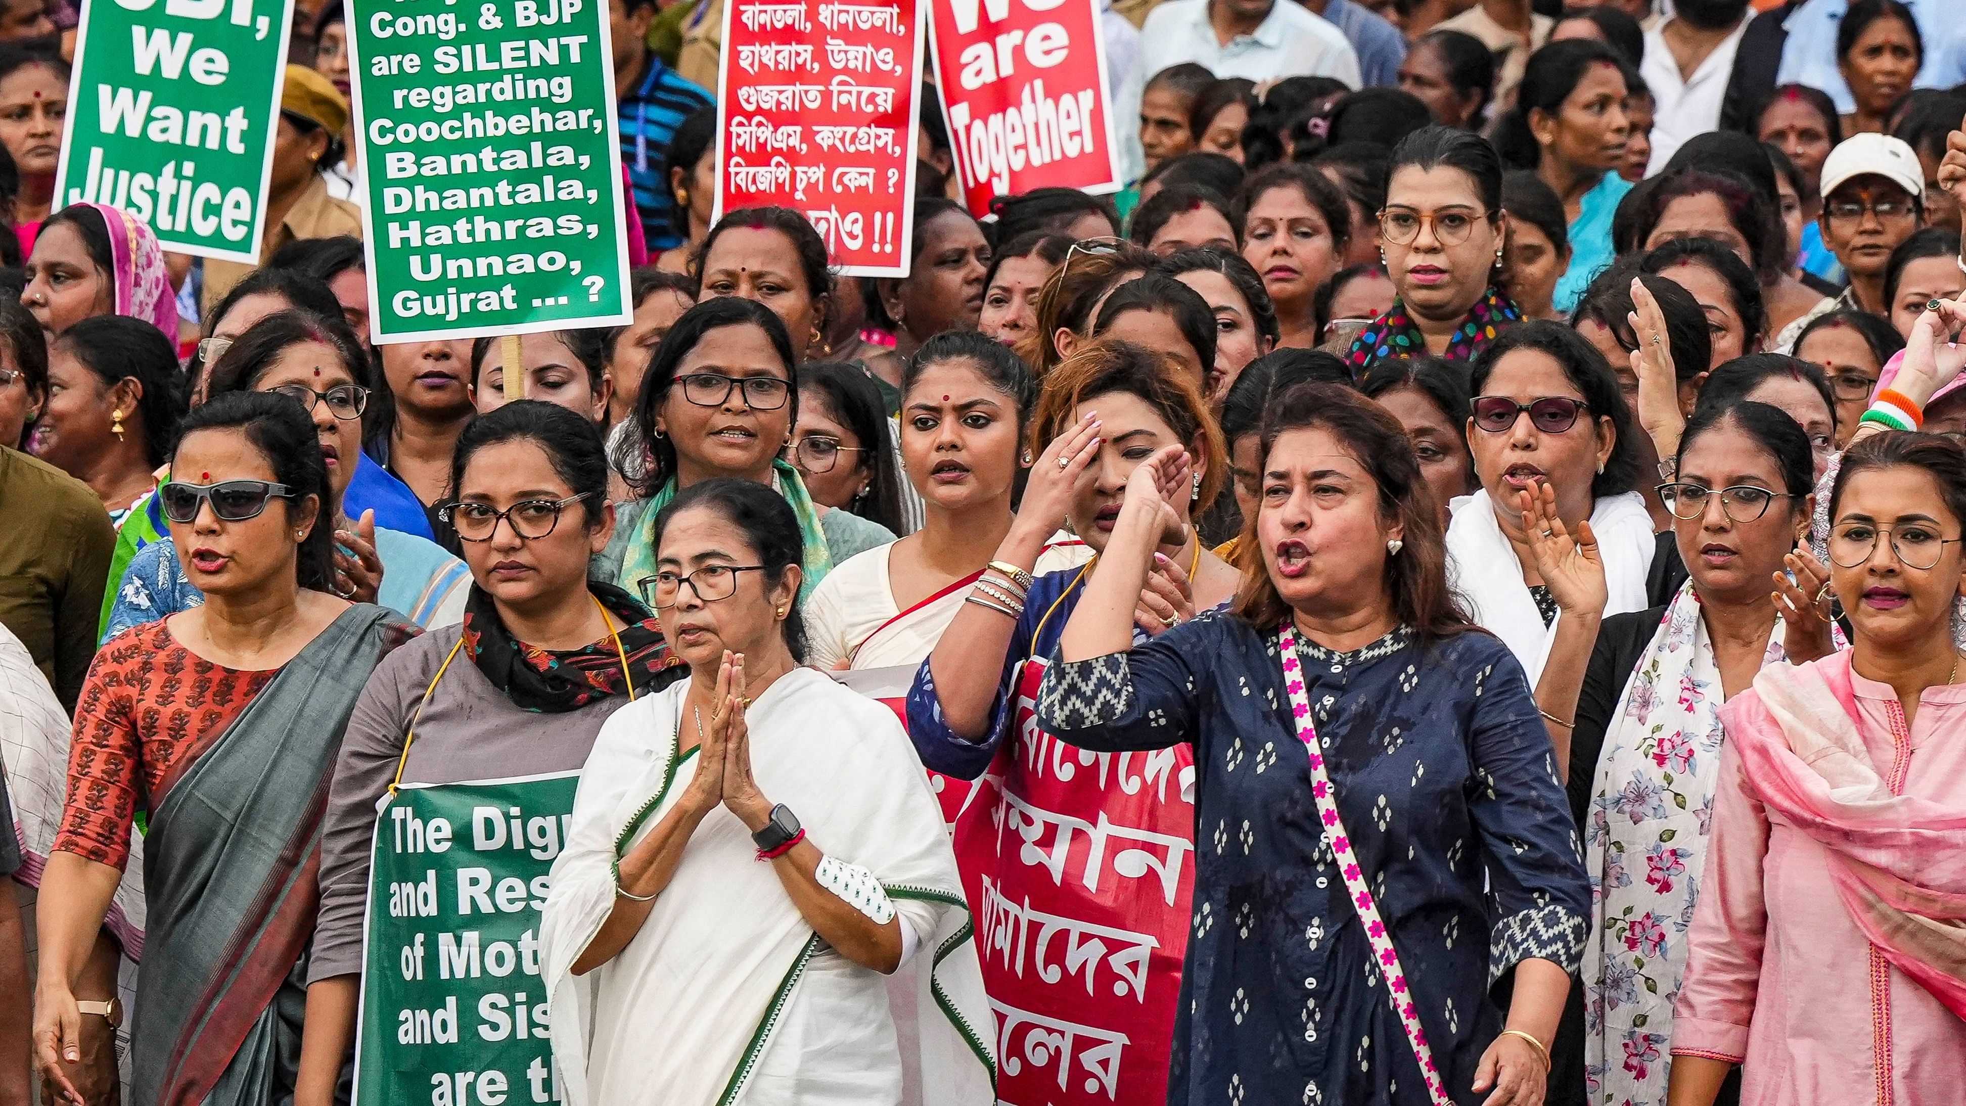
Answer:
POLYGON ((828 947, 727 809, 696 827, 641 931, 572 976, 615 862, 688 788, 688 682, 602 727, 541 925, 552 1055, 572 1106, 989 1106, 995 1029, 942 811, 895 713, 796 668, 745 711, 759 790, 881 882, 920 947, 893 976, 828 947), (932 935, 932 937, 930 937, 932 935))

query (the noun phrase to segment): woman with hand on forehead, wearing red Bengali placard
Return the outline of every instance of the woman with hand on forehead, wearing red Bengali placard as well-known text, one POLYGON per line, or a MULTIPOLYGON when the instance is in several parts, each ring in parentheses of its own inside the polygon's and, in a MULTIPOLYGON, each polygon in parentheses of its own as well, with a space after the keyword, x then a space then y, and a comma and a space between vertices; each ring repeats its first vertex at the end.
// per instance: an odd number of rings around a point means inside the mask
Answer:
MULTIPOLYGON (((930 770, 983 778, 954 817, 955 851, 977 915, 997 917, 1028 898, 1030 910, 1091 923, 1125 943, 1115 953, 1127 953, 1134 982, 1101 982, 1091 998, 1073 978, 1016 972, 991 957, 985 963, 991 996, 1014 1010, 1003 1029, 1005 1053, 1022 1053, 1026 1037, 1048 1031, 1032 1018, 1095 1031, 1097 1047, 1113 1057, 1119 1055, 1113 1041, 1125 1035, 1125 1065, 1087 1069, 1083 1078, 1097 1080, 1119 1102, 1140 1102, 1166 1094, 1168 1086, 1164 1057, 1191 921, 1189 868, 1182 858, 1193 847, 1191 762, 1176 750, 1103 762, 1109 770, 1099 772, 1089 752, 1038 729, 1032 715, 1038 680, 1089 570, 1034 578, 1034 568, 1066 523, 1095 554, 1103 550, 1128 475, 1156 450, 1182 446, 1195 456, 1176 507, 1184 521, 1215 501, 1227 479, 1227 452, 1199 383, 1185 369, 1111 340, 1079 348, 1040 381, 1028 442, 1036 460, 1018 513, 914 678, 908 737, 930 770), (1024 855, 1038 857, 1042 849, 1050 872, 1062 874, 1052 878, 1009 853, 999 857, 993 817, 1022 821, 1030 843, 1024 855), (1066 872, 1075 851, 1073 827, 1091 825, 1113 837, 1113 847, 1066 872), (1050 845, 1040 847, 1040 839, 1050 845), (1127 860, 1119 858, 1123 853, 1127 860), (1115 857, 1113 870, 1103 866, 1103 855, 1115 857)), ((1150 578, 1134 589, 1138 633, 1166 633, 1235 593, 1235 570, 1201 548, 1193 528, 1160 554, 1150 578)), ((999 1096, 1038 1100, 1052 1080, 1036 1065, 1007 1067, 999 1096)))

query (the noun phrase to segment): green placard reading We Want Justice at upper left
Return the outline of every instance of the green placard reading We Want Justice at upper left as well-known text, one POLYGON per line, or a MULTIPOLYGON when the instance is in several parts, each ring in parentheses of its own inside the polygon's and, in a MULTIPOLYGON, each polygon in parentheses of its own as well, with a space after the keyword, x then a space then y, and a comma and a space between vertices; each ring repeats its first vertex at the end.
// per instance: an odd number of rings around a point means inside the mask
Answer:
POLYGON ((85 0, 55 208, 124 208, 165 249, 260 263, 293 4, 85 0))

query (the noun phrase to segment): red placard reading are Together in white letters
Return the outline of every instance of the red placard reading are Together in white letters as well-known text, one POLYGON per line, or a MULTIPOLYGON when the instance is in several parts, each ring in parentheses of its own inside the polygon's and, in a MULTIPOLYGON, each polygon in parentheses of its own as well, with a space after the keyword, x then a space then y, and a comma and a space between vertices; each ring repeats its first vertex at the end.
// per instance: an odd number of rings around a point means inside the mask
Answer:
POLYGON ((1119 191, 1099 0, 932 0, 955 173, 977 218, 1032 189, 1119 191))

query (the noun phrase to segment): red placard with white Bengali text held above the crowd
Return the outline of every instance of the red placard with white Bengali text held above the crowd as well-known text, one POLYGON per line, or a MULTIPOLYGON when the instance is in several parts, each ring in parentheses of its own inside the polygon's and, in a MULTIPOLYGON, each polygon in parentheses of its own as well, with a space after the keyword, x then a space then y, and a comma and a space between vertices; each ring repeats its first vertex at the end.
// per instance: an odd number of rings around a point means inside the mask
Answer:
POLYGON ((718 208, 806 212, 849 277, 906 277, 922 0, 729 0, 718 208))

